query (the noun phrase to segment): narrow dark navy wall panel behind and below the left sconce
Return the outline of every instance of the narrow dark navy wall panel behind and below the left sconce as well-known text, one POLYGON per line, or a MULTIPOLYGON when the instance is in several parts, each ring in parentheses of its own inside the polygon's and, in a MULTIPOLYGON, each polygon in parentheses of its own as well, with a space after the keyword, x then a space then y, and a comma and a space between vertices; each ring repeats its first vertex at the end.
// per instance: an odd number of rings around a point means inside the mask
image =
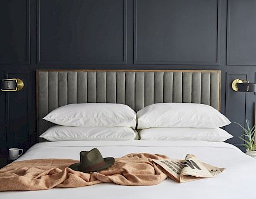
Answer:
POLYGON ((19 93, 6 92, 6 139, 8 147, 23 146, 25 149, 30 146, 31 137, 30 72, 26 70, 6 72, 5 76, 6 78, 18 77, 24 82, 24 88, 19 93), (19 127, 16 128, 18 123, 19 127))

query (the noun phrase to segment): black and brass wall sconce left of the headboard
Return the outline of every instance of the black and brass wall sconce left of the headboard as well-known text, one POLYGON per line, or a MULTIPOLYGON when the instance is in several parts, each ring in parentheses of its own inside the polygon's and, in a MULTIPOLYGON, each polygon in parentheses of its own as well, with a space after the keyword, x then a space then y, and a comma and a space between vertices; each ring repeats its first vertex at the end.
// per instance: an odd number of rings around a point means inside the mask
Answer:
POLYGON ((22 90, 23 87, 23 81, 18 78, 11 78, 1 81, 2 91, 19 91, 22 90))

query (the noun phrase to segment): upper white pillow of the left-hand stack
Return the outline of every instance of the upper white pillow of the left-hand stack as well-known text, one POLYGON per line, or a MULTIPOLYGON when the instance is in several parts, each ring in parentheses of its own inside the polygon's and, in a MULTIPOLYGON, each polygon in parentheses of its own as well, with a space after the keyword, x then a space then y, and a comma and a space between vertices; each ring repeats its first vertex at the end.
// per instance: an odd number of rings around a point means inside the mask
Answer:
POLYGON ((43 119, 63 126, 135 128, 136 113, 120 103, 73 103, 61 106, 43 119))

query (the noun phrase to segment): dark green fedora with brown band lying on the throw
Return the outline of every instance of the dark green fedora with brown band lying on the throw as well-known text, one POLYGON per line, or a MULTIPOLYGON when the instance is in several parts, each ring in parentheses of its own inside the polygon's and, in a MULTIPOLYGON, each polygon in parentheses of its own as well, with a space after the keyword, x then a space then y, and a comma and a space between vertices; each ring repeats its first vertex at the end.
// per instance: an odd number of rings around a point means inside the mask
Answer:
POLYGON ((115 159, 113 157, 103 158, 100 151, 97 148, 93 148, 90 151, 81 151, 80 162, 71 164, 69 168, 88 173, 108 168, 112 166, 114 162, 115 159))

